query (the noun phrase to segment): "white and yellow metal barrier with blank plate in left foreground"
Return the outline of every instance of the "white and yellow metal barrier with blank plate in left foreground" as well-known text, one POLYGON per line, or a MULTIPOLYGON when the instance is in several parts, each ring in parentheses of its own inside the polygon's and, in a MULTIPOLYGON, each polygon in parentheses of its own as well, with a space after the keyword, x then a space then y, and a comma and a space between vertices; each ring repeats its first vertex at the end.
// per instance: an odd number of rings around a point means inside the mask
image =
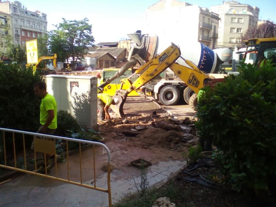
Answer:
POLYGON ((93 142, 88 140, 80 140, 80 139, 73 139, 73 138, 66 138, 66 137, 59 137, 59 136, 53 136, 53 135, 46 135, 46 134, 40 134, 40 133, 33 133, 33 132, 25 132, 25 131, 19 131, 19 130, 12 130, 12 129, 5 129, 0 128, 0 131, 3 131, 3 149, 4 149, 4 165, 0 164, 0 167, 10 169, 10 170, 16 170, 19 172, 24 172, 28 174, 38 175, 41 177, 47 177, 54 180, 59 180, 62 182, 87 187, 93 190, 99 190, 105 193, 108 193, 108 200, 109 200, 109 207, 112 206, 111 201, 111 188, 110 188, 110 164, 111 164, 111 154, 109 149, 106 145, 99 142, 93 142), (14 156, 14 167, 7 165, 7 150, 6 150, 6 138, 5 132, 12 132, 12 144, 13 144, 13 156, 14 156), (15 136, 14 134, 22 134, 22 142, 23 142, 23 153, 24 153, 24 166, 25 169, 20 169, 17 167, 17 159, 16 159, 16 148, 15 148, 15 136), (27 163, 26 163, 26 148, 25 148, 25 135, 33 135, 33 143, 34 143, 34 160, 35 160, 35 170, 30 171, 27 169, 27 163), (44 139, 37 138, 37 137, 43 137, 44 139), (47 138, 50 138, 47 140, 47 138), (56 139, 61 139, 66 141, 66 151, 67 151, 67 179, 63 179, 58 177, 57 175, 57 156, 56 156, 56 139), (68 141, 72 142, 78 142, 79 143, 79 157, 80 157, 80 182, 75 182, 70 180, 70 173, 69 173, 69 153, 68 153, 68 141), (83 176, 82 176, 82 156, 81 156, 81 143, 84 144, 91 144, 93 145, 93 169, 94 169, 94 186, 87 185, 83 183, 83 176), (95 145, 101 146, 106 150, 107 156, 108 156, 108 164, 107 164, 107 189, 96 187, 96 161, 95 161, 95 145), (43 153, 44 158, 44 164, 45 164, 45 174, 38 173, 37 172, 37 160, 36 160, 36 152, 43 153), (47 175, 47 165, 46 165, 46 154, 48 155, 55 155, 54 157, 54 163, 55 163, 55 177, 47 175))

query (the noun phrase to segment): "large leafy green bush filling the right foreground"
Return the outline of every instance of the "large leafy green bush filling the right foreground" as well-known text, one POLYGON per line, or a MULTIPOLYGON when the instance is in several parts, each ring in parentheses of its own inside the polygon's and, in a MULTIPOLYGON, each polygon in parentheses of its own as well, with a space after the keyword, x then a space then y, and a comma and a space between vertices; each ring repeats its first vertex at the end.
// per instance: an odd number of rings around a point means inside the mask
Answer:
POLYGON ((212 137, 234 190, 269 194, 276 174, 276 68, 241 64, 240 75, 206 89, 198 102, 200 136, 212 137))

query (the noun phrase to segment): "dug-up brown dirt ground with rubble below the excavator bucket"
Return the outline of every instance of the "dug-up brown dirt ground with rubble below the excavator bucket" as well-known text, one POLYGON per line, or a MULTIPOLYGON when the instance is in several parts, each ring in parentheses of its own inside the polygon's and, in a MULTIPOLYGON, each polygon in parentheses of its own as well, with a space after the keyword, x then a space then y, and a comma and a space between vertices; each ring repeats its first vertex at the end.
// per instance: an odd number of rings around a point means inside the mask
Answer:
POLYGON ((158 104, 141 97, 129 97, 124 104, 124 113, 127 117, 125 123, 112 114, 112 120, 99 126, 101 137, 105 140, 104 144, 111 151, 114 167, 127 166, 137 159, 144 159, 152 164, 159 161, 184 160, 183 152, 187 152, 190 144, 181 141, 184 132, 152 127, 151 123, 154 121, 175 124, 158 104), (152 117, 153 113, 159 117, 152 117), (137 126, 145 129, 138 131, 139 134, 135 136, 123 133, 124 130, 137 126))

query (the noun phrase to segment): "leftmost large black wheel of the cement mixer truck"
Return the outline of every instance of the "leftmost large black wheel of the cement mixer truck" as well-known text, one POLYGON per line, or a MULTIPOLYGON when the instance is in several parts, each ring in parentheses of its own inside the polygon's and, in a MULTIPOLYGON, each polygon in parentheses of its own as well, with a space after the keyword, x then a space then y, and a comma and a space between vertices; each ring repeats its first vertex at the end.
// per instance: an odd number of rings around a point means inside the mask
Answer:
POLYGON ((159 101, 165 106, 173 106, 177 104, 179 97, 179 90, 171 85, 165 86, 159 93, 159 101))

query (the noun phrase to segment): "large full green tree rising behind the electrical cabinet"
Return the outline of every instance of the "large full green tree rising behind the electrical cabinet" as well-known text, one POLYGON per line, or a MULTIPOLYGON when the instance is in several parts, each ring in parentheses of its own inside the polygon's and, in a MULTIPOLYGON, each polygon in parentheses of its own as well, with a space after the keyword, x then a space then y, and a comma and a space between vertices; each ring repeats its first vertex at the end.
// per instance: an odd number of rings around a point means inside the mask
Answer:
POLYGON ((83 58, 87 53, 88 46, 92 46, 94 38, 92 36, 92 25, 88 24, 88 19, 65 20, 55 25, 57 30, 49 33, 49 48, 52 53, 57 53, 62 58, 72 58, 74 68, 78 59, 83 58))

